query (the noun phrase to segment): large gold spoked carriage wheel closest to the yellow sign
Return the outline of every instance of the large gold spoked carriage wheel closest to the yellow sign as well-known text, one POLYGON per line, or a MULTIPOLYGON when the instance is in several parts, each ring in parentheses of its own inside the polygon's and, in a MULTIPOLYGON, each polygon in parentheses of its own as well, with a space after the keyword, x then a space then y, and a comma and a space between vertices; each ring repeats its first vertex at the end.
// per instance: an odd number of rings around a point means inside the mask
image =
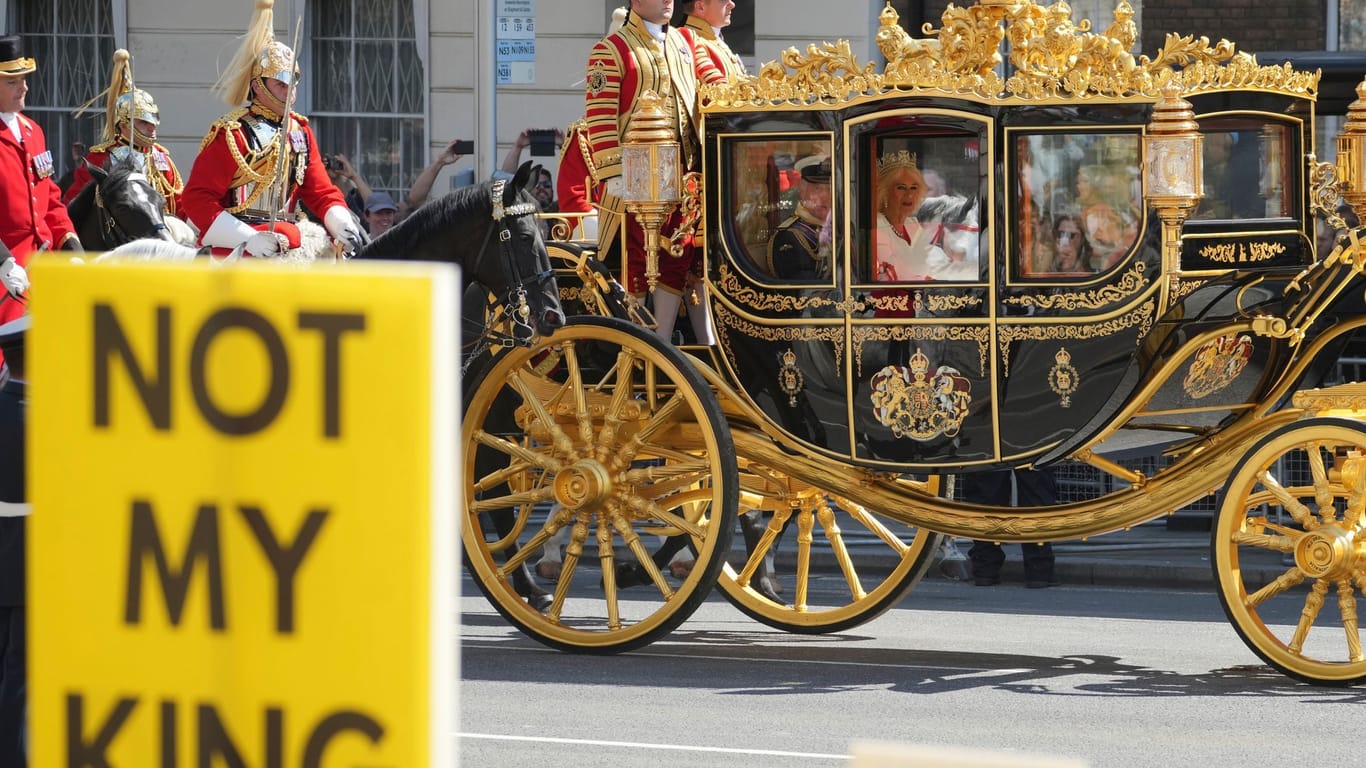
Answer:
POLYGON ((501 351, 466 400, 463 544, 503 616, 552 648, 616 653, 664 637, 706 599, 735 526, 735 447, 682 353, 630 323, 574 317, 501 351), (527 507, 531 521, 518 514, 527 507), (496 515, 526 523, 520 549, 496 515), (563 568, 542 612, 512 574, 561 529, 563 568), (650 559, 653 537, 675 530, 697 551, 683 579, 650 559))

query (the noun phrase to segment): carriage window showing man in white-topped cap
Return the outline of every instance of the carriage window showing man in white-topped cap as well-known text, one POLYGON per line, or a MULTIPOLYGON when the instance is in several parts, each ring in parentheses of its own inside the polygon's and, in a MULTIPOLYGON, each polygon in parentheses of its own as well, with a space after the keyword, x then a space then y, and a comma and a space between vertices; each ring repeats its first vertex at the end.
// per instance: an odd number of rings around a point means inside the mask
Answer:
POLYGON ((831 139, 765 138, 729 145, 732 242, 779 283, 831 279, 831 139))

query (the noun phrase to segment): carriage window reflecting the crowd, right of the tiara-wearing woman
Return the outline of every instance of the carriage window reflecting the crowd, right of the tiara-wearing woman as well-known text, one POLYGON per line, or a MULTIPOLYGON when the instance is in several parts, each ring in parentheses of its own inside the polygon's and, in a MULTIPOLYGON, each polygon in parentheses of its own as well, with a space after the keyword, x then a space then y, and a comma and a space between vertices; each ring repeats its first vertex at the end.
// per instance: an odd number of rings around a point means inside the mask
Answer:
POLYGON ((1014 150, 1022 277, 1083 277, 1128 256, 1143 219, 1137 133, 1018 135, 1014 150))

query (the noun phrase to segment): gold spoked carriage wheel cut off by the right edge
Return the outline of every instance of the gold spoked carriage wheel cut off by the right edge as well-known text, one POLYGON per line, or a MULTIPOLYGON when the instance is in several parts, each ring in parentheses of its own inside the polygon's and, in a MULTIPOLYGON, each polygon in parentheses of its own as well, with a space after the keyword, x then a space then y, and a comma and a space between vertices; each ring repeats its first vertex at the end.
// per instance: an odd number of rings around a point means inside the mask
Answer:
POLYGON ((1290 424, 1229 477, 1213 532, 1218 596, 1243 642, 1305 682, 1366 679, 1358 590, 1366 589, 1366 428, 1336 418, 1290 424), (1243 560, 1287 563, 1261 584, 1243 560), (1290 564, 1294 562, 1294 564, 1290 564))

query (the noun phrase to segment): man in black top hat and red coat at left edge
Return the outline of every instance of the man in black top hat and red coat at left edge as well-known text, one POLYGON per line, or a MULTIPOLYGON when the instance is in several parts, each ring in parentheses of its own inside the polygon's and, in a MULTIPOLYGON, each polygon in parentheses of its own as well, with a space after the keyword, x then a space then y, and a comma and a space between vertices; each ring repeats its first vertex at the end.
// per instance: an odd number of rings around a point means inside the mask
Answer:
MULTIPOLYGON (((0 37, 0 242, 14 254, 0 275, 22 275, 30 256, 46 247, 82 250, 52 178, 52 152, 42 128, 22 115, 26 75, 38 64, 23 55, 18 36, 0 37)), ((7 280, 8 283, 8 280, 7 280)), ((0 302, 0 323, 23 314, 18 301, 0 302)))

